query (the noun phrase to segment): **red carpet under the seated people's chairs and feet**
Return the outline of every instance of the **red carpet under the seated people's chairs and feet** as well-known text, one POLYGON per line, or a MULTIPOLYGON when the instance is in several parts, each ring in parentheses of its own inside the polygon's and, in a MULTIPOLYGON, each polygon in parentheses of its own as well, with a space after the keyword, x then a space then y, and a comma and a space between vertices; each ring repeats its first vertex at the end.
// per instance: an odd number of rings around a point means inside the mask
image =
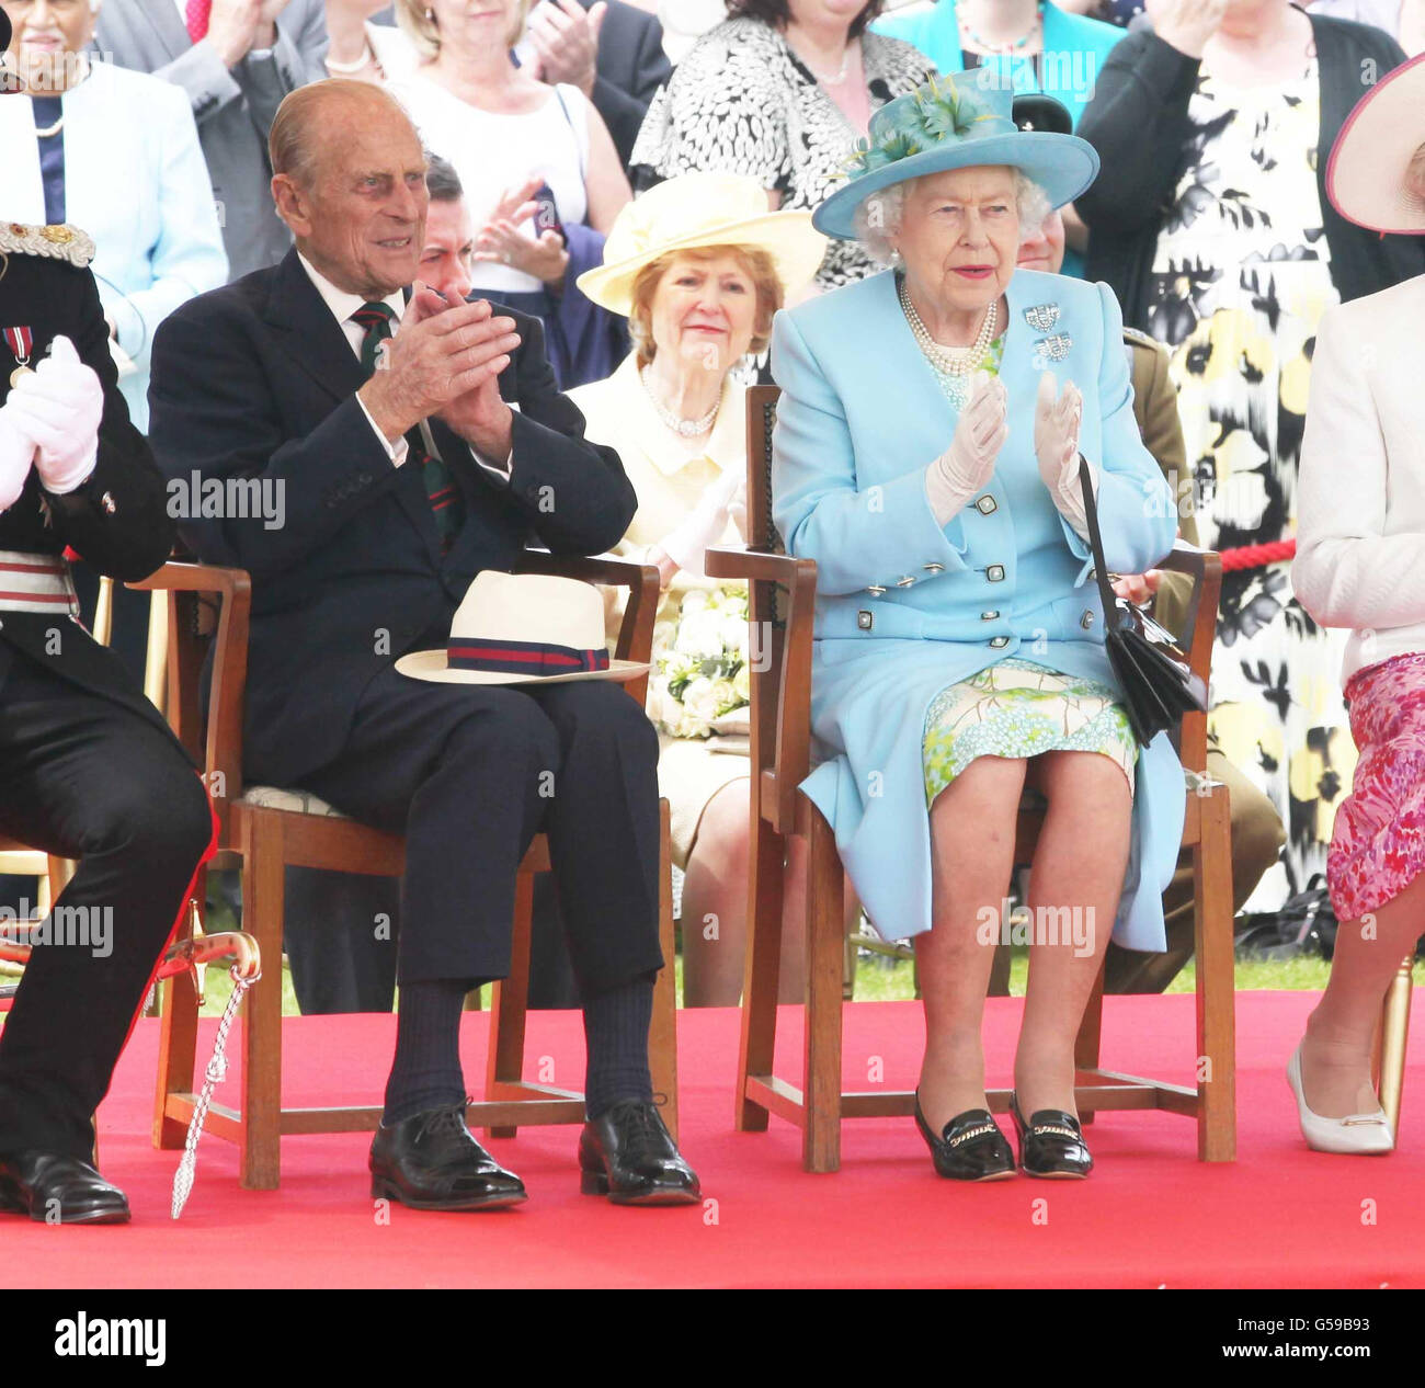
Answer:
MULTIPOLYGON (((683 1149, 705 1208, 618 1210, 579 1194, 577 1129, 526 1129, 492 1144, 524 1177, 517 1210, 419 1214, 389 1224, 368 1198, 366 1136, 284 1140, 282 1188, 244 1191, 237 1154, 205 1137, 184 1217, 168 1218, 177 1153, 148 1144, 158 1023, 144 1022, 101 1110, 104 1171, 128 1191, 125 1228, 3 1221, 6 1260, 33 1287, 1425 1287, 1421 1046, 1405 1093, 1402 1150, 1334 1157, 1307 1150, 1282 1066, 1314 1002, 1238 996, 1240 1156, 1196 1160, 1193 1124, 1110 1113, 1089 1129, 1097 1170, 1084 1181, 1016 1179, 959 1186, 935 1177, 908 1119, 844 1127, 842 1169, 808 1176, 798 1133, 732 1130, 737 1015, 681 1015, 683 1149), (1372 1217, 1374 1216, 1374 1217, 1372 1217)), ((1010 1070, 1019 1003, 990 999, 992 1083, 1010 1070)), ((785 1015, 787 1057, 801 1037, 785 1015)), ((469 1076, 483 1074, 484 1016, 465 1032, 469 1076)), ((204 1032, 211 1042, 212 1023, 204 1032)), ((370 1103, 395 1040, 380 1016, 286 1022, 288 1102, 370 1103)), ((846 1013, 846 1080, 913 1083, 921 1040, 912 1003, 846 1013)), ((202 1052, 207 1053, 205 1049, 202 1052)), ((1190 1080, 1193 999, 1107 999, 1104 1060, 1190 1080)), ((544 1060, 577 1087, 583 1040, 573 1015, 534 1015, 526 1073, 544 1060)), ((551 1072, 550 1072, 551 1067, 551 1072)), ((788 1067, 789 1069, 789 1067, 788 1067)), ((235 1100, 237 1067, 219 1087, 235 1100)), ((1007 1120, 1006 1120, 1006 1131, 1007 1120)))

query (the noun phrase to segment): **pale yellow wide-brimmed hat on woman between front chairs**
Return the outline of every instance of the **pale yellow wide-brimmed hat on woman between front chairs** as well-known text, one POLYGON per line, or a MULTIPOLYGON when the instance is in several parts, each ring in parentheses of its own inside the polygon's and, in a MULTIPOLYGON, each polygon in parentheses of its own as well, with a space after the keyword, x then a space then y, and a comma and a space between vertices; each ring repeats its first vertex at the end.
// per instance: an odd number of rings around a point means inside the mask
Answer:
POLYGON ((718 245, 765 251, 788 296, 811 284, 826 254, 811 212, 768 212, 767 190, 755 178, 680 174, 624 207, 604 242, 604 264, 584 271, 577 284, 600 308, 627 318, 646 265, 718 245))

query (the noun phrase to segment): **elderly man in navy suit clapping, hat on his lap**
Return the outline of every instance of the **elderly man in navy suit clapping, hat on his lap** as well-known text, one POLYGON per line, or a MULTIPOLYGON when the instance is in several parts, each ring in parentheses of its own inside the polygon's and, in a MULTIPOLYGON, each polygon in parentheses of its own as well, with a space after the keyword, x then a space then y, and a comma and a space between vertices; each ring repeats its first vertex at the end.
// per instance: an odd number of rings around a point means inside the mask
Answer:
POLYGON ((284 101, 269 150, 296 248, 167 319, 152 439, 170 477, 285 493, 281 527, 185 530, 205 560, 252 576, 247 771, 406 837, 372 1188, 416 1208, 524 1198, 465 1124, 457 1042, 466 992, 509 972, 514 876, 544 829, 584 998, 583 1188, 694 1201, 647 1062, 663 965, 651 725, 607 683, 433 684, 395 668, 443 647, 475 576, 512 567, 526 539, 557 554, 611 546, 633 489, 617 455, 584 440, 533 319, 425 286, 406 299, 429 195, 392 97, 306 87, 284 101))

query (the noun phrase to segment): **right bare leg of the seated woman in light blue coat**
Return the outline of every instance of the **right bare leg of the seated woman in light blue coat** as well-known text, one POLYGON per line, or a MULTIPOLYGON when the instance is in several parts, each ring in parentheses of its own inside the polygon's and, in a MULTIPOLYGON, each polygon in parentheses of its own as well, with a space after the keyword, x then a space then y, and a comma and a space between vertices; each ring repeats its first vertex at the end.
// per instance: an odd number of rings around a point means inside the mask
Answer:
POLYGON ((1035 761, 1049 811, 1029 875, 1033 932, 1015 1053, 1026 1119, 1037 1109, 1077 1114, 1074 1039, 1113 932, 1133 817, 1127 778, 1112 758, 1045 752, 1035 761), (1060 942, 1043 938, 1050 933, 1060 942))

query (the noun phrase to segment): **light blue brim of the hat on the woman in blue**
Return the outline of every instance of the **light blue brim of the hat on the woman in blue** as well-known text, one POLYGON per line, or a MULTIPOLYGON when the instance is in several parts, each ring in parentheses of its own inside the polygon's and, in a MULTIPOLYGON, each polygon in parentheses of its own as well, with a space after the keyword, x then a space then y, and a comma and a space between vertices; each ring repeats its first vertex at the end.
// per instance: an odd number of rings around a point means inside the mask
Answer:
POLYGON ((1050 207, 1073 202, 1099 177, 1099 151, 1077 135, 1059 135, 1047 130, 1016 130, 980 140, 960 140, 938 145, 909 158, 884 164, 838 188, 812 214, 812 225, 828 237, 855 241, 856 208, 872 194, 892 184, 952 168, 980 168, 1007 164, 1023 170, 1049 194, 1050 207))

